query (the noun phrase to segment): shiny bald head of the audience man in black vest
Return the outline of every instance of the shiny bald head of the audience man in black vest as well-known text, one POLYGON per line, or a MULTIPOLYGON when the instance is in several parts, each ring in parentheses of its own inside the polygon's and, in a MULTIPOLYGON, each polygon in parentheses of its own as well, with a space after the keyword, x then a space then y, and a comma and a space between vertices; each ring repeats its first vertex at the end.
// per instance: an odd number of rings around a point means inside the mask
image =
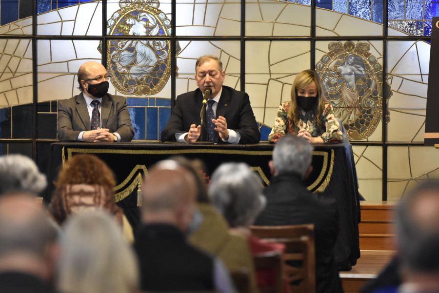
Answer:
POLYGON ((190 172, 175 161, 159 162, 143 182, 143 221, 166 222, 185 231, 192 220, 196 192, 190 172))

